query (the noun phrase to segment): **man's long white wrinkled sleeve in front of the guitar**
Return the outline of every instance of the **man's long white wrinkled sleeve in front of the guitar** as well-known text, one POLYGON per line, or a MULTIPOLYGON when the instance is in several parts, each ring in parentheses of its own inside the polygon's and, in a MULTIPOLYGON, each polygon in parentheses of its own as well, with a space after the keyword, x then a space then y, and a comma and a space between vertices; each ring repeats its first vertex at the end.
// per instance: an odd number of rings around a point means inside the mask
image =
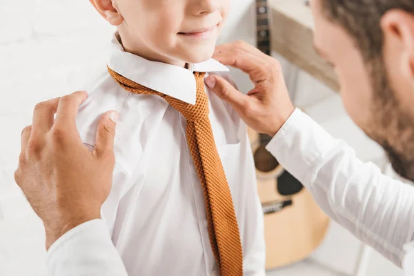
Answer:
POLYGON ((332 219, 397 266, 413 241, 414 189, 363 163, 297 109, 267 149, 332 219))

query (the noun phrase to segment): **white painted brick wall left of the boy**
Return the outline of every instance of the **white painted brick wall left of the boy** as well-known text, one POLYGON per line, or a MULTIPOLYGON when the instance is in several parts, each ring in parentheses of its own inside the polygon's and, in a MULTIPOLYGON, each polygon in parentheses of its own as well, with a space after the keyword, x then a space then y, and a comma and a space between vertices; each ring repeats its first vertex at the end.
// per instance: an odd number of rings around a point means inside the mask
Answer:
POLYGON ((0 275, 46 275, 41 221, 13 183, 34 104, 79 86, 112 32, 86 0, 0 0, 0 275))

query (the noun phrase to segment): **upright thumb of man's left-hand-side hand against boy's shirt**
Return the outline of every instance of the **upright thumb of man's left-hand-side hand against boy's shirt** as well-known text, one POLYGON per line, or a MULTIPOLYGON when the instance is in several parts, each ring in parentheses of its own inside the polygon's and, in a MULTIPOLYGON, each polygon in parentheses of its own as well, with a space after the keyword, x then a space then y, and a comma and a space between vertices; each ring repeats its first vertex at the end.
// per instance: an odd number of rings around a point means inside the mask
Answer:
POLYGON ((118 113, 115 111, 106 112, 99 121, 94 148, 98 157, 113 155, 117 121, 118 113))

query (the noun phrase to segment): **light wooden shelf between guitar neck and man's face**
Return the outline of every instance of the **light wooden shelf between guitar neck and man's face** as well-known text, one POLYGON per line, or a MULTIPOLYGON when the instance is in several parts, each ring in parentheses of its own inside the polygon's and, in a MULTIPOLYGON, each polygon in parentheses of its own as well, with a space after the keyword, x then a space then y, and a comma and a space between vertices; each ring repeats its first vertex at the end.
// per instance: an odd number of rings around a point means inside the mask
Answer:
POLYGON ((313 48, 311 8, 299 0, 269 0, 272 50, 310 75, 339 91, 333 68, 313 48))

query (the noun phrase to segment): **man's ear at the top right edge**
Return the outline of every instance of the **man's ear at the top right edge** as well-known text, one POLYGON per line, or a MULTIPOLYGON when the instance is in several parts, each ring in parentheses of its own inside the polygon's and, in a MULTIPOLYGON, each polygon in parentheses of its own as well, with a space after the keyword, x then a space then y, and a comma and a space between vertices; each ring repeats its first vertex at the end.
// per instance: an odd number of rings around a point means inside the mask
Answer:
POLYGON ((414 80, 414 15, 402 10, 391 10, 382 17, 381 27, 385 39, 393 40, 391 50, 401 52, 402 72, 414 80))

